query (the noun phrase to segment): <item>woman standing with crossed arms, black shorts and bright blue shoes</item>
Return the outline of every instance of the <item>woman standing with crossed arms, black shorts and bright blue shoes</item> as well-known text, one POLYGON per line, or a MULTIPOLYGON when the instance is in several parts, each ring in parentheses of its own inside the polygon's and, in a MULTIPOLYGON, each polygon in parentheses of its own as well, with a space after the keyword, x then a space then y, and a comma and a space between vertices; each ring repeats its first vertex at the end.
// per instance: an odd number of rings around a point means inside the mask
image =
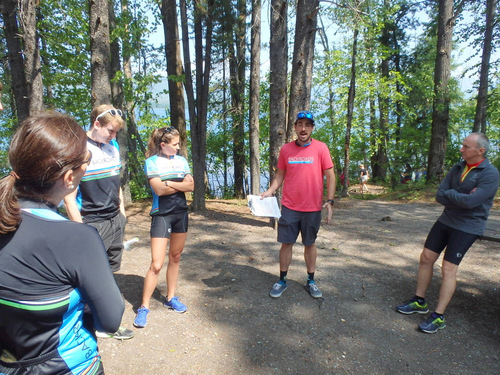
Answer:
POLYGON ((153 191, 150 212, 151 266, 144 280, 142 304, 134 320, 134 326, 138 328, 147 324, 149 300, 158 283, 167 248, 167 296, 164 305, 179 313, 187 310, 174 293, 188 229, 188 207, 184 193, 193 191, 194 180, 187 160, 177 155, 179 143, 179 132, 171 126, 154 130, 148 141, 145 171, 153 191))

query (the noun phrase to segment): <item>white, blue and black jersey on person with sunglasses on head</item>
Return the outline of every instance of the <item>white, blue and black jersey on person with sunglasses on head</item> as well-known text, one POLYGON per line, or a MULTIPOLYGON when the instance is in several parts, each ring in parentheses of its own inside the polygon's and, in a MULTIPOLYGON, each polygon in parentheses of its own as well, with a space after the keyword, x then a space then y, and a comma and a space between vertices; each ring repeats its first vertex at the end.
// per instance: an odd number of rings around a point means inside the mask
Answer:
POLYGON ((76 196, 84 223, 102 221, 120 212, 120 150, 116 139, 109 144, 87 138, 92 160, 76 196))

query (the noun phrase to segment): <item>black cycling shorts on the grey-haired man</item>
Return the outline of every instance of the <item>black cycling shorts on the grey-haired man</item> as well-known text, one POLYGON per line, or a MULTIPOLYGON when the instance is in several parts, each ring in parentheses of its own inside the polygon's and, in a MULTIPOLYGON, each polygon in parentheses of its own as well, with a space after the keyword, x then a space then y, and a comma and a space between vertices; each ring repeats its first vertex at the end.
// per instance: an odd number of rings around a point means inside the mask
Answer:
POLYGON ((478 237, 477 234, 465 233, 436 221, 424 246, 438 254, 446 248, 444 259, 458 266, 478 237))

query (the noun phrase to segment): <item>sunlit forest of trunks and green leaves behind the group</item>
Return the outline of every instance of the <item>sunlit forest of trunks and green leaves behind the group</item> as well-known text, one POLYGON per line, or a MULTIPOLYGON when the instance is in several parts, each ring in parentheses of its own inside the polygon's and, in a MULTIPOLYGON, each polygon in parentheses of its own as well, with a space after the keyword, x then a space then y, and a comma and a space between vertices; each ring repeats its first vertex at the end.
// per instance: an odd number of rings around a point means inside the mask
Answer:
POLYGON ((87 129, 91 108, 103 103, 126 119, 118 141, 127 201, 150 194, 147 138, 169 125, 193 168, 194 210, 207 197, 258 194, 304 109, 315 115, 313 136, 329 146, 337 176, 344 173, 343 195, 360 163, 380 184, 398 184, 406 164, 425 172, 421 184, 434 184, 471 131, 490 137, 489 158, 500 167, 496 0, 1 0, 0 7, 4 174, 10 138, 26 117, 54 109, 87 129), (160 46, 152 41, 158 30, 160 46), (464 54, 457 65, 452 56, 464 54))

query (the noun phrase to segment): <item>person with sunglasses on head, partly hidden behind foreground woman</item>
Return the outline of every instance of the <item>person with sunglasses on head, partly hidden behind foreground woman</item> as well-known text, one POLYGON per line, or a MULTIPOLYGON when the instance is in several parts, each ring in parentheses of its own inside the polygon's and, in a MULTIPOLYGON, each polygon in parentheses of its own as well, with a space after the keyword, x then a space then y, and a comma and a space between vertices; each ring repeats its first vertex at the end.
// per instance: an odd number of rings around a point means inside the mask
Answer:
MULTIPOLYGON (((103 104, 90 113, 87 147, 92 161, 78 186, 64 203, 68 217, 93 226, 99 232, 108 254, 112 272, 120 270, 123 253, 123 235, 127 222, 123 192, 120 187, 120 151, 116 134, 123 127, 122 112, 103 104)), ((117 332, 98 332, 98 337, 118 340, 130 339, 134 332, 120 327, 117 332)))

